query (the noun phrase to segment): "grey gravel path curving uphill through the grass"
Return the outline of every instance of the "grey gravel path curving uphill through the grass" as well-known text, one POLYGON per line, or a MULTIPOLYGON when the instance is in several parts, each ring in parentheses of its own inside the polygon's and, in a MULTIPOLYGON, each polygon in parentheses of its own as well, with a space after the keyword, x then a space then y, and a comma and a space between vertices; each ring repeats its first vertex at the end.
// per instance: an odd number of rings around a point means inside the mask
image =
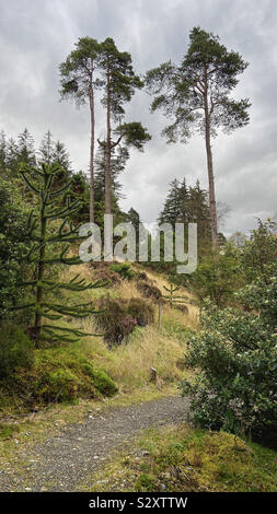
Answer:
POLYGON ((0 471, 0 491, 76 491, 86 475, 101 466, 140 430, 186 419, 188 401, 162 398, 120 407, 82 424, 70 424, 32 451, 21 451, 22 471, 0 471))

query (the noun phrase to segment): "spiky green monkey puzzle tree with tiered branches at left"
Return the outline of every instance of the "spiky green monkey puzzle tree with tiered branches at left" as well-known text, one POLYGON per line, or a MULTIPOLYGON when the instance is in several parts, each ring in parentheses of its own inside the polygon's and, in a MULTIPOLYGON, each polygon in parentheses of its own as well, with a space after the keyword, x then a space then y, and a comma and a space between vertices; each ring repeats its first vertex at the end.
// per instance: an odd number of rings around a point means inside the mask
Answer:
POLYGON ((47 270, 55 264, 81 264, 79 257, 66 256, 70 243, 80 240, 78 235, 79 227, 74 227, 72 222, 69 221, 69 217, 79 209, 80 202, 79 200, 71 202, 68 197, 67 206, 60 207, 57 203, 57 198, 64 195, 71 184, 68 180, 60 189, 54 189, 55 175, 58 173, 60 173, 58 165, 48 166, 44 163, 42 163, 41 168, 25 166, 21 171, 27 187, 39 198, 39 211, 38 213, 34 211, 30 213, 26 234, 33 244, 25 260, 35 267, 35 278, 32 281, 22 283, 22 287, 33 288, 35 297, 33 302, 18 305, 12 309, 27 308, 33 311, 34 325, 28 328, 28 331, 37 347, 39 340, 45 337, 53 340, 72 341, 81 336, 92 336, 92 334, 82 332, 80 329, 70 329, 44 323, 44 319, 58 320, 62 316, 83 318, 95 314, 91 302, 62 305, 49 301, 47 299, 49 293, 56 293, 62 289, 80 292, 102 285, 101 281, 85 283, 83 279, 79 278, 79 274, 69 282, 58 282, 47 277, 47 270), (61 221, 58 227, 57 220, 61 221), (59 253, 54 249, 57 246, 59 253))

